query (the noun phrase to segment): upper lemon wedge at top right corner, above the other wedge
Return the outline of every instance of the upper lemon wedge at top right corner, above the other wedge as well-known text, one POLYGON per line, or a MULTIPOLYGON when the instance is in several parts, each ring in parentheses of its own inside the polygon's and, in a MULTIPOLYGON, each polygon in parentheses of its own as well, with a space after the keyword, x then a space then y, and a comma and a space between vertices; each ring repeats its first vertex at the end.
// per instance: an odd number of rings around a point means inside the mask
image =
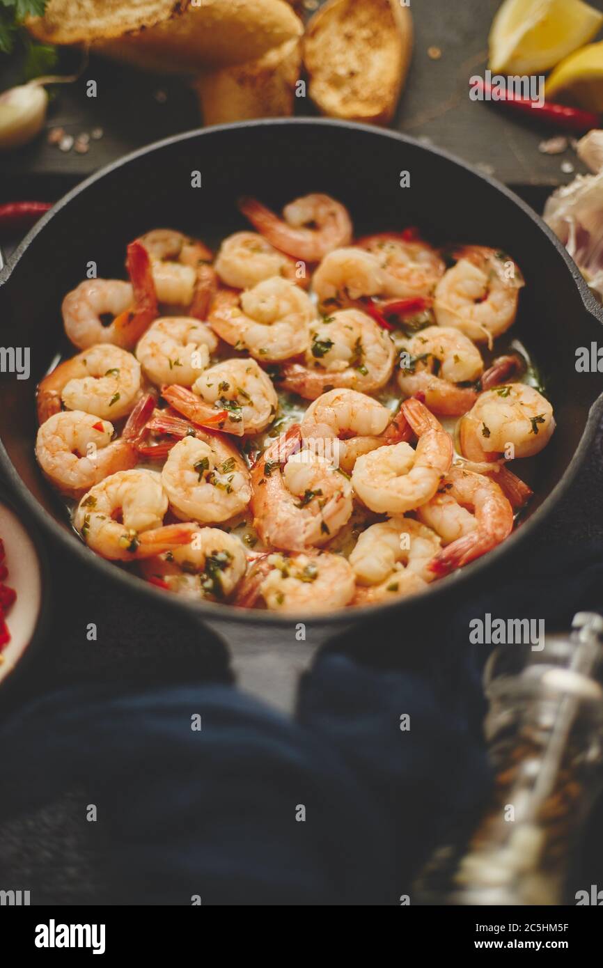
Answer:
POLYGON ((490 31, 495 74, 539 74, 588 44, 603 14, 582 0, 504 0, 490 31))

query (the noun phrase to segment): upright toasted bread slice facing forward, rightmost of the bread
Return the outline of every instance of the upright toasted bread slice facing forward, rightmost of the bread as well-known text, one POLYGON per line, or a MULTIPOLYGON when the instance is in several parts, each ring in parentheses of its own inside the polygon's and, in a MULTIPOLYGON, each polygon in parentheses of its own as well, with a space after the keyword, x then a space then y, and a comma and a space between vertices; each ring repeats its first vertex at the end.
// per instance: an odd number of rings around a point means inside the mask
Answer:
POLYGON ((304 38, 310 97, 330 117, 387 124, 411 51, 412 18, 399 0, 328 0, 304 38))

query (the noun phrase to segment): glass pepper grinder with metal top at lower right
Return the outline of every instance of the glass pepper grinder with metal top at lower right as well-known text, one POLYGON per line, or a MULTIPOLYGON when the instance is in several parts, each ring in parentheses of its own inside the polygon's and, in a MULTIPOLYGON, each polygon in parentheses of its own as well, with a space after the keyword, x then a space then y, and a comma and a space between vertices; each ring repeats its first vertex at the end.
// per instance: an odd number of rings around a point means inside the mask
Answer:
POLYGON ((499 647, 484 684, 491 801, 466 852, 440 848, 417 890, 428 904, 561 904, 603 780, 603 618, 579 613, 541 650, 499 647))

